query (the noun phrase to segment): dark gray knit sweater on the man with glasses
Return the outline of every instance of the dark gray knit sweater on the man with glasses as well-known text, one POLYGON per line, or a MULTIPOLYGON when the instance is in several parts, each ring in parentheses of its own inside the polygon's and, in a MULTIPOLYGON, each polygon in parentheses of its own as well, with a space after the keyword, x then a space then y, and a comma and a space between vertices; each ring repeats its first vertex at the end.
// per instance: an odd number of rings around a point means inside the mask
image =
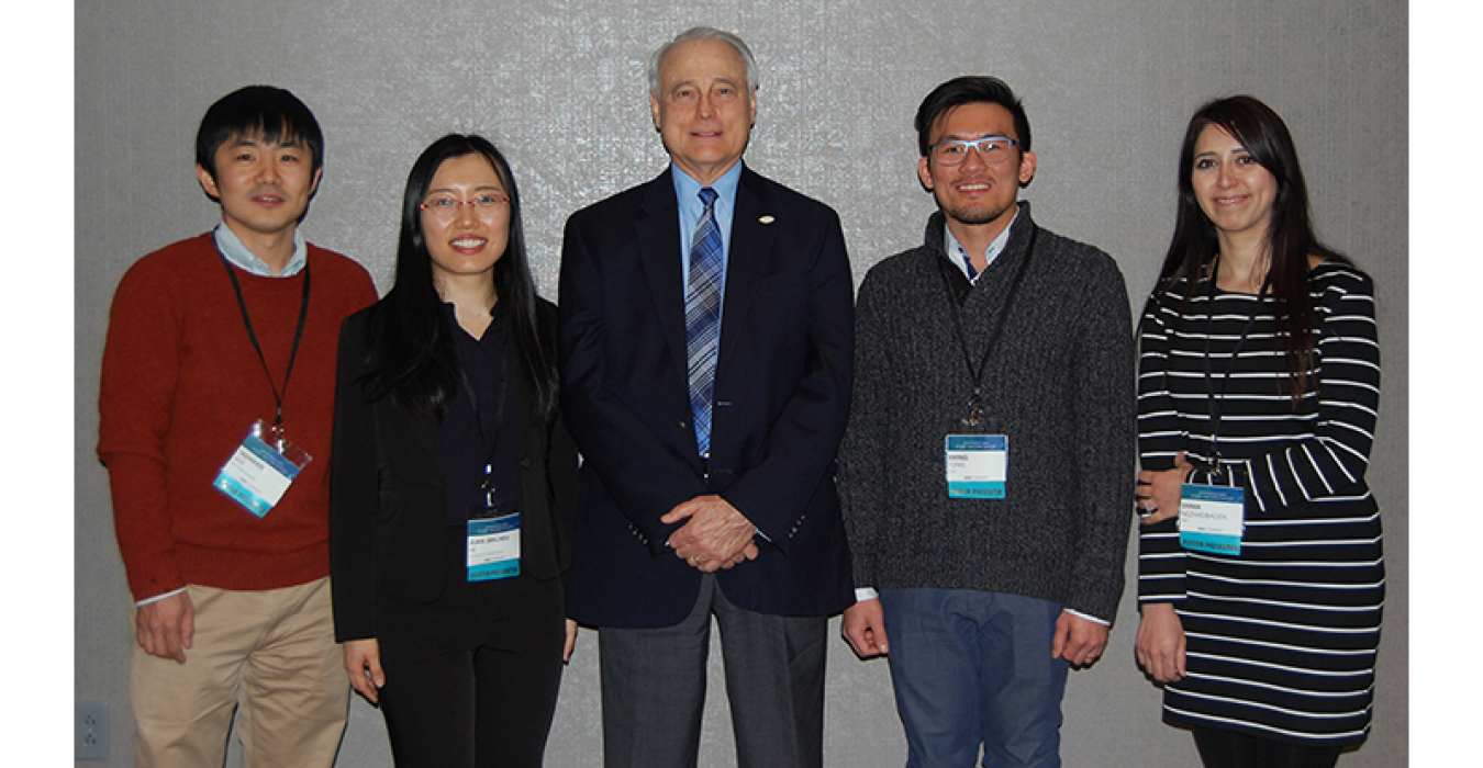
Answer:
MULTIPOLYGON (((960 306, 974 366, 1035 229, 1019 206, 1004 252, 960 306)), ((943 275, 967 283, 946 257, 937 212, 922 247, 860 286, 838 474, 856 586, 1007 592, 1111 622, 1136 460, 1123 274, 1106 253, 1038 231, 982 385, 989 431, 1008 435, 1007 497, 949 499, 943 438, 968 432, 973 379, 943 275)))

